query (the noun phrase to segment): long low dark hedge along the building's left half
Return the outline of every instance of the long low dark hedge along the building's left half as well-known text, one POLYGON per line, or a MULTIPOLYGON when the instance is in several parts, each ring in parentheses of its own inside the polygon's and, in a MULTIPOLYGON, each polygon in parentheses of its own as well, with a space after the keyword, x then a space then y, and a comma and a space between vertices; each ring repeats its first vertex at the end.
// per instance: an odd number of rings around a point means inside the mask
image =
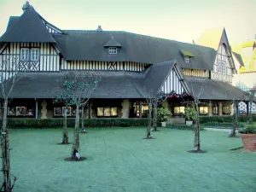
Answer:
MULTIPOLYGON (((81 123, 81 121, 80 121, 81 123)), ((2 125, 2 121, 0 121, 2 125)), ((58 128, 62 127, 63 119, 8 119, 9 128, 58 128)), ((75 119, 67 119, 67 127, 74 127, 75 119)), ((84 119, 85 127, 107 126, 145 126, 148 119, 84 119)))

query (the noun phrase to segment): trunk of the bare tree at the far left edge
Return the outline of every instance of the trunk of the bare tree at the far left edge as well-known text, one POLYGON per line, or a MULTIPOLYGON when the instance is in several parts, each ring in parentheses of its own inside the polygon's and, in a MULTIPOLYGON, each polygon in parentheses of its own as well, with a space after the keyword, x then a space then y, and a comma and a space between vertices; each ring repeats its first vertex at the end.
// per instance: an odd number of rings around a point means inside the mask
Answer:
POLYGON ((1 134, 2 160, 3 160, 3 191, 9 192, 12 190, 10 178, 10 155, 9 155, 9 130, 7 128, 7 108, 8 99, 4 99, 3 104, 3 127, 1 134))

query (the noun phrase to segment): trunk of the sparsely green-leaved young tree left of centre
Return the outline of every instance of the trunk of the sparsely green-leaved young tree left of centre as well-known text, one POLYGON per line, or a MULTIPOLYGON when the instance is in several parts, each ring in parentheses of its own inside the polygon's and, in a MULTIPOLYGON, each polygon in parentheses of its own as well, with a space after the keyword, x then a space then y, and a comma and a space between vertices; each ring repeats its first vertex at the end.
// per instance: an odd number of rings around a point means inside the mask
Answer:
POLYGON ((79 153, 79 104, 76 105, 76 121, 75 130, 73 135, 73 148, 72 148, 72 158, 78 159, 76 154, 79 153))

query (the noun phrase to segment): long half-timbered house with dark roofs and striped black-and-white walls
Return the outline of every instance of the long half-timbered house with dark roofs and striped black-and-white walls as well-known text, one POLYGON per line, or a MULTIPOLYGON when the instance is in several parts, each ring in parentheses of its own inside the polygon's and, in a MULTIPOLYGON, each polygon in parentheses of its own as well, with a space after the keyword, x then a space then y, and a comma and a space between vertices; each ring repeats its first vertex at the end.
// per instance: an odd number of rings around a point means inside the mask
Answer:
MULTIPOLYGON (((184 113, 183 93, 199 91, 202 80, 207 84, 201 95, 201 115, 230 114, 229 101, 245 98, 243 91, 231 85, 236 68, 225 31, 212 48, 211 44, 103 31, 100 26, 95 31, 62 30, 29 3, 23 9, 22 15, 9 18, 0 38, 0 62, 6 63, 2 70, 9 72, 1 80, 26 70, 26 77, 12 91, 9 118, 62 116, 63 106, 53 99, 60 92, 61 75, 73 70, 102 77, 84 113, 89 118, 142 118, 148 110, 143 103, 145 87, 174 93, 164 105, 177 117, 184 113), (15 62, 21 67, 15 67, 15 62)), ((73 108, 67 114, 72 117, 73 108)))

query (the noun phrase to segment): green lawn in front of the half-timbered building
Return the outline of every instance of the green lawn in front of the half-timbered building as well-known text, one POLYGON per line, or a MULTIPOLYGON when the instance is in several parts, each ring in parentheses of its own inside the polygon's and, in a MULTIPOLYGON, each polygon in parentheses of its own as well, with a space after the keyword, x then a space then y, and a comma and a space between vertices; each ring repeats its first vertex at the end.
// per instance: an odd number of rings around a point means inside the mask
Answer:
POLYGON ((256 191, 256 153, 230 150, 242 146, 241 138, 226 132, 202 131, 207 154, 190 154, 192 131, 161 129, 154 140, 142 139, 145 128, 89 131, 80 135, 88 160, 67 162, 72 146, 56 144, 60 129, 12 130, 15 192, 256 191))

